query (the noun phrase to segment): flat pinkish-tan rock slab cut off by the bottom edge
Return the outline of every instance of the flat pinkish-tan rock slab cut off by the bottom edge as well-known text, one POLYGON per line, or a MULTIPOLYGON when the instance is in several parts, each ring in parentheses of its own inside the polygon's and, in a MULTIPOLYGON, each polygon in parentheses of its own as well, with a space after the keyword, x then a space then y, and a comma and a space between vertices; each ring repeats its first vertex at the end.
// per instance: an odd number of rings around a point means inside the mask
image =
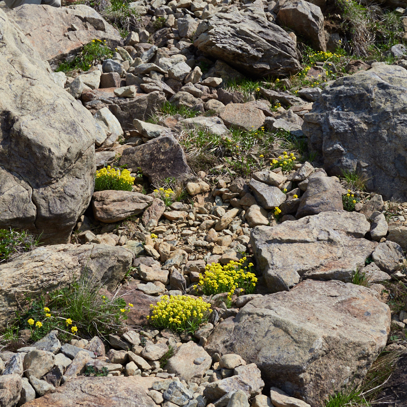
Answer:
POLYGON ((142 382, 149 377, 86 377, 79 376, 55 393, 25 403, 26 407, 80 407, 83 405, 126 405, 128 407, 156 407, 157 404, 147 395, 142 382))

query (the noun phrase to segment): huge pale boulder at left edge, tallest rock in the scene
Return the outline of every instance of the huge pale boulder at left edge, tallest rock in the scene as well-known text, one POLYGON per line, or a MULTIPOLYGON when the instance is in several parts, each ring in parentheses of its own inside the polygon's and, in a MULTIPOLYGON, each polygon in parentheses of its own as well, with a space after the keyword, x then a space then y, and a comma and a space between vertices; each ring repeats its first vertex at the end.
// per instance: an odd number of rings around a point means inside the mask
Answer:
POLYGON ((1 10, 0 33, 0 226, 66 243, 92 195, 95 123, 1 10))

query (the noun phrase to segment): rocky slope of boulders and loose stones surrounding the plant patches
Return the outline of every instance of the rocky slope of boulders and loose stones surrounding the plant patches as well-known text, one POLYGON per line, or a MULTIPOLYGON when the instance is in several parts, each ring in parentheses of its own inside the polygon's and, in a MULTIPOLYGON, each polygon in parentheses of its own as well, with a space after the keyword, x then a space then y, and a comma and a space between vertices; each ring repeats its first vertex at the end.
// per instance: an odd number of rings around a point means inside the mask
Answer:
MULTIPOLYGON (((390 330, 407 323, 407 309, 386 304, 388 281, 405 279, 407 204, 383 201, 405 197, 406 71, 403 59, 358 62, 362 72, 324 89, 270 86, 270 75, 288 85, 301 71, 296 34, 316 50, 332 45, 326 6, 140 0, 131 3, 140 28, 124 41, 84 5, 0 10, 0 224, 42 232, 46 244, 0 264, 0 327, 27 294, 80 276, 132 304, 127 327, 108 338, 62 344, 52 331, 31 343, 21 332, 24 346, 0 352, 0 404, 323 406, 363 382, 390 330), (111 58, 51 72, 93 39, 111 58), (244 75, 264 79, 249 96, 227 87, 244 75), (151 123, 168 103, 199 114, 151 123), (243 152, 254 156, 249 175, 225 161, 218 172, 191 168, 193 131, 231 149, 236 129, 275 136, 266 157, 243 152), (280 131, 307 136, 321 167, 281 146, 280 131), (108 164, 148 190, 94 192, 95 170, 108 164), (358 170, 371 192, 344 188, 340 169, 358 170), (169 177, 187 199, 152 191, 169 177), (255 264, 254 294, 203 296, 213 311, 193 336, 148 325, 162 295, 202 296, 206 265, 243 257, 255 264)), ((326 69, 304 75, 319 81, 326 69)))

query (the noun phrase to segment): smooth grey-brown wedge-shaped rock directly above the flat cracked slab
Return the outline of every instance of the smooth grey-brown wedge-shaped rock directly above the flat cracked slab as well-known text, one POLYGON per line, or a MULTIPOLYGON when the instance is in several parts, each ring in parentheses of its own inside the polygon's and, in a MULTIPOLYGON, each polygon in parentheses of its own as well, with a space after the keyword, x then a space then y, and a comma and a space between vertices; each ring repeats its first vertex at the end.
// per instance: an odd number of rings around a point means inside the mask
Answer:
POLYGON ((314 177, 308 180, 296 218, 342 209, 342 186, 339 180, 336 177, 314 177))

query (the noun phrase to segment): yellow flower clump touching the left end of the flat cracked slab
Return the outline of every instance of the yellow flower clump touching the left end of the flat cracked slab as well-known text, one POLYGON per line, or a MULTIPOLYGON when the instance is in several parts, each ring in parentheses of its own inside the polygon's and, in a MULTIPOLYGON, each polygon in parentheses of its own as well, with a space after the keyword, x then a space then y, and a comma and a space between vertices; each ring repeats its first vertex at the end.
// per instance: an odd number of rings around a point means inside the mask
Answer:
POLYGON ((229 261, 222 266, 219 263, 208 264, 205 274, 199 275, 199 286, 203 294, 213 295, 228 293, 228 300, 236 288, 243 288, 246 294, 252 294, 256 286, 257 277, 251 272, 252 263, 245 266, 246 257, 239 261, 229 261))

